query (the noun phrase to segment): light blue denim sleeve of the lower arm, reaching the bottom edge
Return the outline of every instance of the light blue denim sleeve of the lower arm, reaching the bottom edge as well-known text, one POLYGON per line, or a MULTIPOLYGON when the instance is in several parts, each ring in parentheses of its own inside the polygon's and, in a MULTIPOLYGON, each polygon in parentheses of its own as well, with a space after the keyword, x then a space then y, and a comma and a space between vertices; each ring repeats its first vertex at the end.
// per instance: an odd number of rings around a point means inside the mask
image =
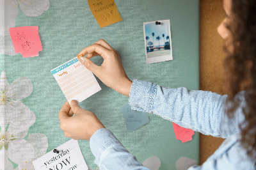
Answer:
POLYGON ((95 164, 104 169, 141 169, 144 167, 134 155, 106 128, 98 129, 90 138, 90 148, 95 156, 95 164))

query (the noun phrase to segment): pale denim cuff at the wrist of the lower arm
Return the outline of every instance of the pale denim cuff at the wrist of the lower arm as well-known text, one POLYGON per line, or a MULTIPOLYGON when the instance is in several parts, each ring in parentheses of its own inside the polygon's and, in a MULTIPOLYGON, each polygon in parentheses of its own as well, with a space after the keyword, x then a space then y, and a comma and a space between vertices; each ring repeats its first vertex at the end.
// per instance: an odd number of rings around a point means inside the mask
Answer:
POLYGON ((106 128, 99 128, 90 138, 90 148, 95 156, 94 163, 99 166, 100 156, 110 147, 115 145, 122 145, 115 135, 106 128))

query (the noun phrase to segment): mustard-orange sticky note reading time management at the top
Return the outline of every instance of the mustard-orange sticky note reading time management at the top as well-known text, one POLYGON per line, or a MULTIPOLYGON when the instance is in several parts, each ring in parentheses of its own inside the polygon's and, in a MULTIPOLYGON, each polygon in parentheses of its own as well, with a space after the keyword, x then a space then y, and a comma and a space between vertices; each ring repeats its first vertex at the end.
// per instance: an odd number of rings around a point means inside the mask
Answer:
POLYGON ((100 27, 122 20, 114 0, 88 0, 88 4, 100 27))

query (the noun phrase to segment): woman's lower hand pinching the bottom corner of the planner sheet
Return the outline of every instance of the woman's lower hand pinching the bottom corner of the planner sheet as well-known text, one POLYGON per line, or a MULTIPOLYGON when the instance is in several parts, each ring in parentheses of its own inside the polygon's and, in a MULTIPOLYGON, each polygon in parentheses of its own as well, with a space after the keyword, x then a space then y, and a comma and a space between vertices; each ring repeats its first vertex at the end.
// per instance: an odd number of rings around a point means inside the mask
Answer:
POLYGON ((76 100, 72 100, 70 105, 65 102, 59 112, 59 119, 64 135, 76 140, 90 140, 94 132, 105 128, 93 112, 82 109, 76 100))

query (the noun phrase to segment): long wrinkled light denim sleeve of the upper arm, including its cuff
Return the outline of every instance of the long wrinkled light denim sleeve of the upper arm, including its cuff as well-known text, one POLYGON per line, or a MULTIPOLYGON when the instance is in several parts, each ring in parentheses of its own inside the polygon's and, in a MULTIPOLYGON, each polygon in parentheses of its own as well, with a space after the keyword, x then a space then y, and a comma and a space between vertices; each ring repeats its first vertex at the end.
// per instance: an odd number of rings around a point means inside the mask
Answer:
POLYGON ((226 138, 239 133, 241 108, 234 118, 225 114, 227 95, 186 88, 164 88, 152 82, 132 81, 129 104, 205 135, 226 138))

